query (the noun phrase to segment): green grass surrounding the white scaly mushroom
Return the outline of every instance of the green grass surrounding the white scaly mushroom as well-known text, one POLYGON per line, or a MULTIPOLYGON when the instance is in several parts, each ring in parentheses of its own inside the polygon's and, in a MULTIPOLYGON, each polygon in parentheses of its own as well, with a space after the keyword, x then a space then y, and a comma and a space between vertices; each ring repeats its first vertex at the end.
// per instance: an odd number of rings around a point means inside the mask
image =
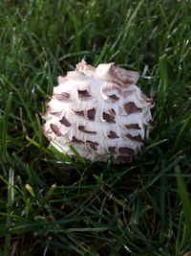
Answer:
POLYGON ((180 256, 191 250, 191 2, 0 2, 0 255, 180 256), (138 159, 49 148, 41 113, 85 58, 137 70, 154 97, 138 159))

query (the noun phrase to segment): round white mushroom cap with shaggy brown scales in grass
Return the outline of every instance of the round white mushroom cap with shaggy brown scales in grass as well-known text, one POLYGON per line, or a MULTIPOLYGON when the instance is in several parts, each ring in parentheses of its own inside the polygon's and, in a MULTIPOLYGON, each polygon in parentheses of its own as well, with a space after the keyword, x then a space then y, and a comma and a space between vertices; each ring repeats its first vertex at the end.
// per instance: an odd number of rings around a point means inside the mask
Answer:
MULTIPOLYGON (((138 86, 138 72, 114 63, 96 68, 82 61, 76 70, 58 78, 47 105, 45 136, 59 151, 74 155, 73 145, 84 158, 114 154, 114 163, 129 163, 138 154, 155 126, 152 98, 138 86)), ((107 160, 104 156, 100 159, 107 160)))

